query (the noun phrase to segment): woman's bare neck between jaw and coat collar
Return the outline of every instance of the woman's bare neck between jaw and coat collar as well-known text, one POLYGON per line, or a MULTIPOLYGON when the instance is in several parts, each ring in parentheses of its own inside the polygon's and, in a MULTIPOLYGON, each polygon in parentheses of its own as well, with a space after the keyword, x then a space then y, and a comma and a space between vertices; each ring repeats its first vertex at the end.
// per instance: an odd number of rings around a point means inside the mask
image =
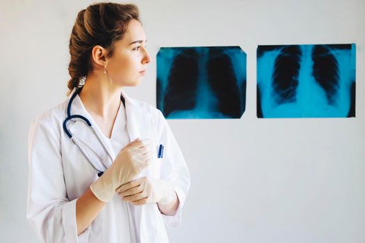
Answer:
POLYGON ((88 112, 107 119, 120 106, 121 87, 102 76, 88 76, 79 97, 88 112))

